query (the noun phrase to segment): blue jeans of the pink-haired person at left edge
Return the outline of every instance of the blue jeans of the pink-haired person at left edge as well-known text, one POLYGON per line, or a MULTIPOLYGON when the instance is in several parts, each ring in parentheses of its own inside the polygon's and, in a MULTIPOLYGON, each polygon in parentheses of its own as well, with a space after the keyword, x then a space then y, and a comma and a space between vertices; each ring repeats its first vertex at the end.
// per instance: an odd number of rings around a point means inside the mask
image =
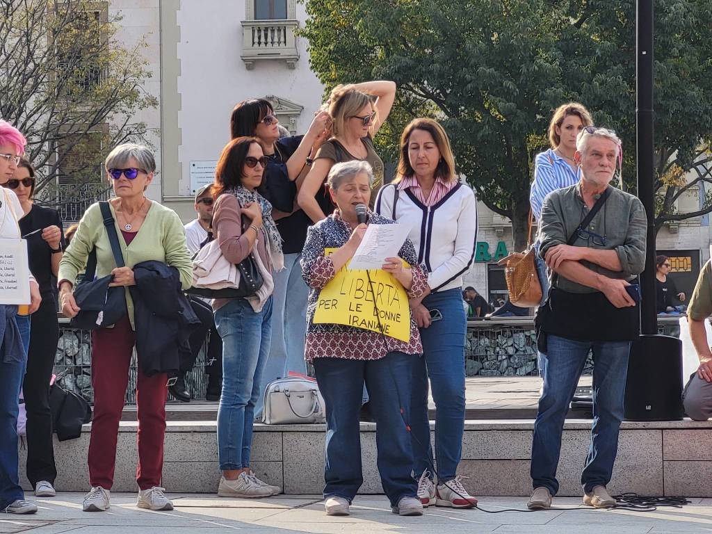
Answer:
POLYGON ((14 360, 0 360, 0 510, 25 496, 17 474, 17 414, 27 353, 14 360))

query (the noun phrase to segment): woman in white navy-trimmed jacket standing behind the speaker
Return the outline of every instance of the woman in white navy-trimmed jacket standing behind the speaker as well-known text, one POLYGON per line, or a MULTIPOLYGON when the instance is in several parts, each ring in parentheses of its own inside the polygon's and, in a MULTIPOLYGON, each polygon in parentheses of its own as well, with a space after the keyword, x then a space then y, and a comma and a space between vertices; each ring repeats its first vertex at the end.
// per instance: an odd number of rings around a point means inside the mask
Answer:
POLYGON ((397 175, 383 187, 376 211, 406 224, 418 261, 428 273, 429 294, 411 300, 423 357, 413 370, 412 446, 423 506, 471 508, 456 475, 465 422, 465 334, 462 276, 471 266, 477 234, 472 189, 455 174, 450 141, 438 122, 419 118, 405 128, 397 175), (436 406, 437 486, 428 422, 428 379, 436 406))

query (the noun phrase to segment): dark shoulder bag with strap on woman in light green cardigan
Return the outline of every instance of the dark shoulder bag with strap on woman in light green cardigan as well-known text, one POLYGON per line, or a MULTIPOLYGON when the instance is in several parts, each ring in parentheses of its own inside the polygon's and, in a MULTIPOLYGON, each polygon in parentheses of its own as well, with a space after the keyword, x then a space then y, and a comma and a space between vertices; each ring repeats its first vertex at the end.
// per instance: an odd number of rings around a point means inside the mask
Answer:
MULTIPOLYGON (((114 226, 114 216, 107 201, 100 201, 101 214, 104 226, 109 236, 111 251, 117 267, 125 266, 124 258, 119 246, 119 238, 114 226)), ((110 288, 109 284, 114 278, 112 275, 94 279, 96 272, 96 248, 89 253, 84 277, 74 289, 74 300, 80 311, 70 321, 73 328, 81 330, 95 330, 105 326, 114 325, 126 315, 126 290, 122 286, 110 288)))

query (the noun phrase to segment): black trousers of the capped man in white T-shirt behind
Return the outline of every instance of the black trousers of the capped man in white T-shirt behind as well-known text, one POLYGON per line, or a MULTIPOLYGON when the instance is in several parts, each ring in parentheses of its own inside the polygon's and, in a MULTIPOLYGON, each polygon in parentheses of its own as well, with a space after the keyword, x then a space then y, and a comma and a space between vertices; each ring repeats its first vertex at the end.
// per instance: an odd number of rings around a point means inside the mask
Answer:
POLYGON ((205 355, 205 372, 210 376, 208 393, 220 394, 222 387, 222 340, 215 328, 213 309, 204 300, 195 297, 190 298, 190 305, 195 315, 200 319, 200 325, 193 330, 189 337, 190 356, 181 362, 181 372, 192 370, 205 342, 205 336, 210 333, 208 352, 205 355))

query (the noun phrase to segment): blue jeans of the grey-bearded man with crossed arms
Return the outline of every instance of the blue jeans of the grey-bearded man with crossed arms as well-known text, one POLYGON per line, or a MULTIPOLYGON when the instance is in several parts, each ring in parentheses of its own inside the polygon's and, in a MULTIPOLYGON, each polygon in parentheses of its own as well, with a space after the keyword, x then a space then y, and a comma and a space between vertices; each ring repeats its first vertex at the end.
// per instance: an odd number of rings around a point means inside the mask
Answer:
POLYGON ((549 361, 532 442, 533 487, 548 488, 552 495, 559 490, 556 468, 564 419, 590 349, 594 357, 593 426, 581 484, 587 492, 606 486, 618 451, 631 343, 574 341, 556 335, 549 335, 547 341, 549 361))

